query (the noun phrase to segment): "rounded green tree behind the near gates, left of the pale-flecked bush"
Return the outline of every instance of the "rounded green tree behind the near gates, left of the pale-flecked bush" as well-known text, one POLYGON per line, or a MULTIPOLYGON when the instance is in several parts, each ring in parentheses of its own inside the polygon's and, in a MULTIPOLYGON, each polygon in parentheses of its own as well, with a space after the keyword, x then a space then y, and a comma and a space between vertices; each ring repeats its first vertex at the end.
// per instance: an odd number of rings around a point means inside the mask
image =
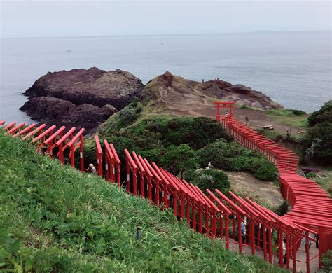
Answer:
POLYGON ((171 145, 167 148, 161 162, 173 174, 180 173, 181 179, 184 179, 184 170, 195 169, 197 157, 195 151, 188 144, 171 145))

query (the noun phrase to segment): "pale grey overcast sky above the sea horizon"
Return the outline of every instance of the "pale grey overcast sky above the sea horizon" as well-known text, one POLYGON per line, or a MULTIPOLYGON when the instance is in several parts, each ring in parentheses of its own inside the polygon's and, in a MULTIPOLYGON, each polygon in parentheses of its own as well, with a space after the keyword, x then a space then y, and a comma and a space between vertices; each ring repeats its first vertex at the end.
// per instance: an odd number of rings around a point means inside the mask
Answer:
POLYGON ((330 1, 1 1, 1 37, 331 30, 330 1))

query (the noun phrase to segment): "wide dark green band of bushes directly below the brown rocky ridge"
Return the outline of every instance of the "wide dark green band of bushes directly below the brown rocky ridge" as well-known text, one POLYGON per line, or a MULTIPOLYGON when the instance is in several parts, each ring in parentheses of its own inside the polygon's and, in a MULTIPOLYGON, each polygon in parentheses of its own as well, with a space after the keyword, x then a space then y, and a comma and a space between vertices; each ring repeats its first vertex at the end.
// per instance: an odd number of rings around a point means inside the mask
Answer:
POLYGON ((108 138, 113 135, 130 137, 135 139, 136 146, 143 149, 188 144, 191 148, 197 150, 216 141, 216 139, 232 140, 223 130, 223 127, 211 118, 151 115, 136 120, 137 107, 139 106, 132 109, 130 104, 130 106, 112 116, 106 122, 106 124, 110 123, 105 125, 107 129, 102 130, 102 137, 108 138), (135 121, 134 124, 132 124, 132 120, 135 121))

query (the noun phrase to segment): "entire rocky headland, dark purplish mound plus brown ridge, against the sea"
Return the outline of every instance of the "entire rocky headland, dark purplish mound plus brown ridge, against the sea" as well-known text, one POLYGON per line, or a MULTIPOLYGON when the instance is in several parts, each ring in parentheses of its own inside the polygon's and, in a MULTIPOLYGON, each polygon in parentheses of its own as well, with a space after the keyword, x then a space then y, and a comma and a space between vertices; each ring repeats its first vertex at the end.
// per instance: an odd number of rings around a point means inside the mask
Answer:
POLYGON ((146 102, 155 113, 185 116, 213 116, 215 99, 254 109, 283 108, 261 92, 223 80, 200 83, 165 72, 144 86, 129 72, 106 72, 95 67, 49 72, 25 95, 29 99, 20 109, 32 119, 49 125, 85 127, 87 133, 135 98, 146 102))

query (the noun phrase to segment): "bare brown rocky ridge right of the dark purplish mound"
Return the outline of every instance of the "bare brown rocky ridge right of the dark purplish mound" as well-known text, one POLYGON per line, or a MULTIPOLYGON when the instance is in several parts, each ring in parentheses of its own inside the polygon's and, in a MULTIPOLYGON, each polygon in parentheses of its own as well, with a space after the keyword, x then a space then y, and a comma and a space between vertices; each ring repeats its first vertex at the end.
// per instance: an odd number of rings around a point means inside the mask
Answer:
POLYGON ((169 113, 188 116, 214 116, 213 101, 233 101, 256 109, 282 109, 262 92, 244 85, 232 85, 223 80, 198 83, 173 76, 170 72, 151 80, 141 92, 141 101, 149 99, 150 106, 169 113), (211 113, 210 113, 211 112, 211 113))

